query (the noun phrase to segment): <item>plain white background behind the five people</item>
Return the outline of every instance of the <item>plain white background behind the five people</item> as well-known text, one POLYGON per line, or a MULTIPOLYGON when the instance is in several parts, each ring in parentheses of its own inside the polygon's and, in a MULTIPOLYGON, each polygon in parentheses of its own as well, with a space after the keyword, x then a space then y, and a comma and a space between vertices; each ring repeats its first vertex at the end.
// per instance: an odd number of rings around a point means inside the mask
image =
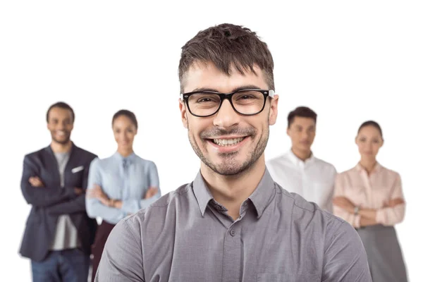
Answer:
POLYGON ((30 281, 18 255, 30 210, 20 192, 25 154, 49 145, 45 113, 65 101, 76 145, 108 157, 111 117, 134 111, 137 154, 153 160, 164 193, 199 168, 178 110, 180 47, 219 23, 250 27, 275 61, 279 116, 266 158, 289 149, 286 116, 317 111, 314 154, 338 171, 358 159, 354 137, 374 119, 384 166, 403 178, 397 226, 410 281, 422 281, 423 8, 420 1, 2 1, 0 4, 0 279, 30 281))

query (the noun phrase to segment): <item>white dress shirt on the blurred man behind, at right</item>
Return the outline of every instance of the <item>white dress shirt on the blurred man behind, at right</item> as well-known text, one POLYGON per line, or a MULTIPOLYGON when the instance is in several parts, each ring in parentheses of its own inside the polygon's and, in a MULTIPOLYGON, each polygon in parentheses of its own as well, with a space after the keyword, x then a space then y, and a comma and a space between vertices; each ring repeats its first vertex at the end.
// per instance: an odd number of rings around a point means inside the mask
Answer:
POLYGON ((315 202, 321 209, 332 212, 335 166, 317 159, 313 154, 302 161, 291 150, 267 161, 266 166, 271 177, 283 189, 297 193, 305 200, 315 202))

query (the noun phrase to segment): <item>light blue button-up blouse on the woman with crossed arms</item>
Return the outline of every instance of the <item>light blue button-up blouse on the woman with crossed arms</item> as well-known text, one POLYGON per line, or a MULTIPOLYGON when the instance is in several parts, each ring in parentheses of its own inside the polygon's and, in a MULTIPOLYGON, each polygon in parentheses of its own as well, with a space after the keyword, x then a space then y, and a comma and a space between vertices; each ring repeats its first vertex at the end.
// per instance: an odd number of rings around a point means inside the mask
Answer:
POLYGON ((93 219, 100 217, 112 224, 148 207, 161 197, 156 164, 135 153, 122 157, 116 152, 106 159, 94 159, 90 164, 87 188, 92 189, 94 184, 101 186, 109 198, 121 200, 122 208, 106 207, 98 199, 87 197, 87 214, 93 219), (157 187, 159 191, 153 197, 144 199, 150 187, 157 187))

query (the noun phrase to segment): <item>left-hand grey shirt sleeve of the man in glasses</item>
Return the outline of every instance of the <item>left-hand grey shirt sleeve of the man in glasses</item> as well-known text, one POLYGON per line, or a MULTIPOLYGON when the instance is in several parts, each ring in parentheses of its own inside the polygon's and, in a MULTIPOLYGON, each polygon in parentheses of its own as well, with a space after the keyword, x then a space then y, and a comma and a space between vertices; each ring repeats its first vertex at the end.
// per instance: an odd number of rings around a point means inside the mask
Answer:
POLYGON ((116 224, 107 238, 94 281, 144 282, 140 237, 140 227, 130 226, 127 220, 116 224))

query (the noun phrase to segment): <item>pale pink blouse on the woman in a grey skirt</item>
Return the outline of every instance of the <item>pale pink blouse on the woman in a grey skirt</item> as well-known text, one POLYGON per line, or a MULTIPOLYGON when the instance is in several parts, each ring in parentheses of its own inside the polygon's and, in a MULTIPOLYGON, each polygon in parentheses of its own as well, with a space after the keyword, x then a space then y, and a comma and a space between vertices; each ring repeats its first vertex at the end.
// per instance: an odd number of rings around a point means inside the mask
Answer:
MULTIPOLYGON (((333 197, 339 196, 347 197, 359 207, 376 209, 376 222, 384 226, 393 226, 404 219, 405 204, 384 207, 389 200, 396 198, 404 200, 400 175, 379 163, 370 175, 360 164, 339 173, 336 176, 333 197)), ((333 206, 333 214, 345 219, 355 228, 360 227, 360 215, 350 214, 337 206, 333 206)))

